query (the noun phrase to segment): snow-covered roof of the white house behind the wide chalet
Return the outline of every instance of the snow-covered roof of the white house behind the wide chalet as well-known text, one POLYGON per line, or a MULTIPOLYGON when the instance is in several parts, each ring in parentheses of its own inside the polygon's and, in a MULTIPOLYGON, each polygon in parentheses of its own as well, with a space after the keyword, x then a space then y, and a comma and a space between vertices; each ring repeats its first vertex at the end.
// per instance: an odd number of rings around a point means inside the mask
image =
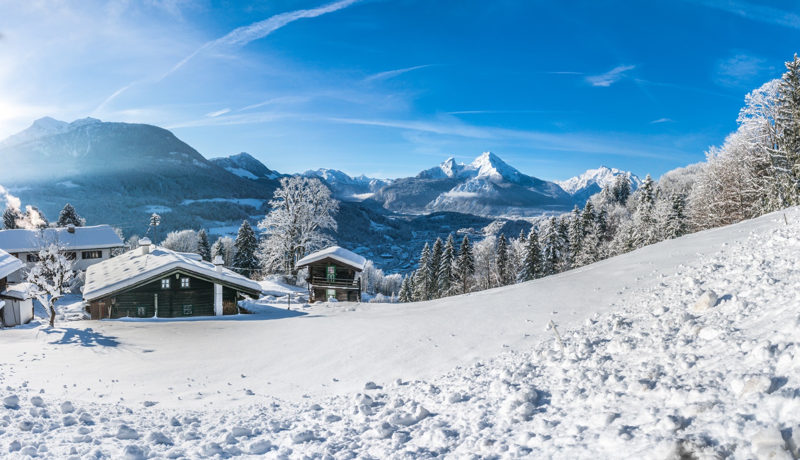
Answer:
POLYGON ((122 247, 125 244, 111 226, 102 225, 75 227, 74 233, 70 233, 66 227, 0 230, 0 249, 6 252, 34 252, 40 232, 43 232, 46 241, 58 239, 60 244, 71 250, 122 247))

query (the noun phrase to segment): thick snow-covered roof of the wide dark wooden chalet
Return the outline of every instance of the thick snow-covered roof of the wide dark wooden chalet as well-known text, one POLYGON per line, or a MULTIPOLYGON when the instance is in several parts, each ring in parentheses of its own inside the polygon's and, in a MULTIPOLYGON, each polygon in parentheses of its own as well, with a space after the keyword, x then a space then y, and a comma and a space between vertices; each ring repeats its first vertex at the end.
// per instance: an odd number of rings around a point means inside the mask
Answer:
POLYGON ((213 263, 198 260, 197 254, 179 253, 157 247, 150 250, 150 254, 142 254, 142 249, 137 248, 90 266, 86 269, 83 298, 87 301, 101 298, 178 269, 239 286, 242 290, 261 292, 258 282, 226 268, 218 272, 213 263))

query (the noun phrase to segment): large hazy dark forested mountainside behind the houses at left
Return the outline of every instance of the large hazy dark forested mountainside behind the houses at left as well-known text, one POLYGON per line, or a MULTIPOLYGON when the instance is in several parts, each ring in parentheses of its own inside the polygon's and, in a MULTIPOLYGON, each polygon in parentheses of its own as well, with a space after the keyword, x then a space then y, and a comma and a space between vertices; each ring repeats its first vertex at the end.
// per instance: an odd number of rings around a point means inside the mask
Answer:
POLYGON ((277 186, 268 178, 256 182, 231 173, 158 126, 94 118, 72 123, 42 120, 3 141, 0 156, 8 165, 3 185, 13 187, 23 203, 35 204, 50 219, 70 202, 90 224, 120 224, 126 234, 146 231, 154 206, 168 209, 159 229, 164 232, 238 224, 250 214, 263 213, 228 202, 180 203, 203 198, 264 200, 272 198, 277 186))

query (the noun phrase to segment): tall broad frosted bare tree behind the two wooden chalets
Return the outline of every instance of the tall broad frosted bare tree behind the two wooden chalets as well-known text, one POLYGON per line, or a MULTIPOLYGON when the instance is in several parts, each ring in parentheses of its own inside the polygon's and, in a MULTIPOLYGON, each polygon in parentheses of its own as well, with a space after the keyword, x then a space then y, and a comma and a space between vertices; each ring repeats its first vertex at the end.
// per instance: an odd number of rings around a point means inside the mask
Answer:
POLYGON ((270 201, 272 210, 258 222, 264 236, 258 259, 264 270, 294 274, 297 261, 334 243, 325 230, 337 230, 338 200, 317 178, 282 178, 270 201))

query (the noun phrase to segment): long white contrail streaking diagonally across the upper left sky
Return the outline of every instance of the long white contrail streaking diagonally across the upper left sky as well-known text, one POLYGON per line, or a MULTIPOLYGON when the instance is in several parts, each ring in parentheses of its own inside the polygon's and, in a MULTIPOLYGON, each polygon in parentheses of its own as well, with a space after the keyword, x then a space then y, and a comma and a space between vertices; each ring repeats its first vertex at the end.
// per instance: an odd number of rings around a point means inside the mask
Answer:
POLYGON ((258 40, 259 38, 264 38, 267 35, 273 33, 275 30, 280 29, 283 26, 286 26, 290 22, 297 21, 298 19, 302 18, 316 18, 318 16, 322 16, 322 14, 332 13, 334 11, 342 10, 354 3, 362 2, 362 0, 340 0, 338 2, 329 3, 324 6, 319 6, 318 8, 312 8, 310 10, 294 10, 289 11, 282 14, 275 14, 274 16, 267 18, 263 21, 254 22, 249 26, 242 26, 238 27, 237 29, 231 30, 228 34, 222 36, 221 38, 217 38, 216 40, 212 40, 210 42, 206 42, 203 46, 200 46, 197 50, 194 50, 193 53, 186 56, 186 58, 181 59, 178 63, 167 70, 166 73, 162 74, 158 78, 146 78, 143 80, 138 80, 136 82, 132 82, 127 86, 123 86, 119 90, 116 90, 114 94, 111 94, 109 98, 106 98, 105 101, 102 102, 100 106, 94 111, 97 112, 103 106, 105 106, 111 99, 116 98, 119 94, 122 94, 125 90, 128 90, 131 86, 136 84, 144 83, 144 82, 158 82, 163 80, 164 78, 173 74, 175 70, 180 69, 182 66, 186 65, 186 62, 189 62, 192 58, 201 54, 207 50, 212 50, 218 46, 233 46, 239 45, 243 46, 247 43, 253 42, 254 40, 258 40))

